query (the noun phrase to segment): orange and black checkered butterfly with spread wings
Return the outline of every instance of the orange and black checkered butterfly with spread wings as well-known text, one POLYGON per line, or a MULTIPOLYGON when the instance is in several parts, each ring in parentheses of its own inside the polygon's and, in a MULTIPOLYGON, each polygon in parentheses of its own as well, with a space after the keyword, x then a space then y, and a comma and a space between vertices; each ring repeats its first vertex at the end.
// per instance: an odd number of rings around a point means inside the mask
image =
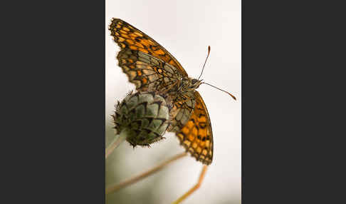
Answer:
POLYGON ((206 105, 190 78, 171 53, 150 36, 121 19, 112 19, 111 36, 120 46, 117 60, 137 91, 158 91, 172 101, 169 113, 174 132, 186 151, 205 165, 213 160, 213 132, 206 105))

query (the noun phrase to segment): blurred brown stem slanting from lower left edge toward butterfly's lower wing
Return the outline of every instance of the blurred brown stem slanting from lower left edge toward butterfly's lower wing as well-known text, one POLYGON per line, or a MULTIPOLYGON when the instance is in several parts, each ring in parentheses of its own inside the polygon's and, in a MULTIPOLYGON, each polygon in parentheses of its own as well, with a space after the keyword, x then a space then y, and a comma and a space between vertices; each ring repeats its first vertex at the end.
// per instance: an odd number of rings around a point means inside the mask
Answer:
POLYGON ((140 173, 140 175, 136 175, 130 179, 124 180, 121 183, 118 183, 115 185, 110 185, 109 187, 106 188, 105 194, 113 193, 116 190, 119 190, 120 188, 124 188, 125 186, 130 185, 132 183, 136 183, 138 180, 141 180, 141 179, 157 172, 158 170, 161 170, 162 168, 164 168, 164 166, 168 165, 169 163, 172 163, 174 160, 178 160, 179 158, 184 157, 185 155, 187 155, 186 152, 180 153, 180 154, 175 155, 174 157, 170 158, 169 160, 166 160, 163 163, 155 166, 154 168, 147 170, 143 173, 140 173))

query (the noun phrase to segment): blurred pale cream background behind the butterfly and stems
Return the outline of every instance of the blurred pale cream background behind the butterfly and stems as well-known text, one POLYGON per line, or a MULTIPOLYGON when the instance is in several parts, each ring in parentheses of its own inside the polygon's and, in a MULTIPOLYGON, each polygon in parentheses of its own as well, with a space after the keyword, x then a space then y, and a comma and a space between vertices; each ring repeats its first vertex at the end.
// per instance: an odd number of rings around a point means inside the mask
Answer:
MULTIPOLYGON (((113 17, 127 21, 164 46, 197 78, 211 53, 201 78, 236 96, 207 85, 198 88, 209 111, 214 134, 214 160, 204 183, 183 203, 241 203, 241 1, 129 1, 106 0, 105 26, 113 17)), ((120 51, 105 32, 106 146, 114 137, 110 114, 116 100, 134 89, 117 66, 120 51)), ((151 168, 184 148, 173 133, 152 148, 135 150, 122 143, 106 161, 106 185, 151 168)), ((199 178, 201 163, 190 155, 145 180, 106 196, 106 203, 171 203, 199 178)))

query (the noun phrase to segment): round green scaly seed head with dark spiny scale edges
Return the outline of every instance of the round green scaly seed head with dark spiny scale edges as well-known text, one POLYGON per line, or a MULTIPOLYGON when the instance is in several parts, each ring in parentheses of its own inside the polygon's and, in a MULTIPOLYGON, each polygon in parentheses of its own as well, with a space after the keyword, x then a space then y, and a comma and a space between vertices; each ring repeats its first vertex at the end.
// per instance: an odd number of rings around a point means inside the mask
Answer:
POLYGON ((131 91, 117 102, 112 117, 117 133, 126 130, 132 146, 150 146, 162 140, 169 126, 169 107, 157 93, 131 91))

